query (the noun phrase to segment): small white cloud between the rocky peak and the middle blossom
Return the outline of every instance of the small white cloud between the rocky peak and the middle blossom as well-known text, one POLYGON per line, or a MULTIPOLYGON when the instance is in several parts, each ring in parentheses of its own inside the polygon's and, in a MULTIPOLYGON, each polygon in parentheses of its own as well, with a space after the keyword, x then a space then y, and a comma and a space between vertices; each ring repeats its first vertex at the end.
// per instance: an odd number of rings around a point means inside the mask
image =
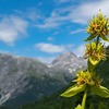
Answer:
POLYGON ((73 52, 77 56, 77 57, 83 57, 84 52, 85 52, 85 45, 81 45, 77 48, 73 49, 73 52))

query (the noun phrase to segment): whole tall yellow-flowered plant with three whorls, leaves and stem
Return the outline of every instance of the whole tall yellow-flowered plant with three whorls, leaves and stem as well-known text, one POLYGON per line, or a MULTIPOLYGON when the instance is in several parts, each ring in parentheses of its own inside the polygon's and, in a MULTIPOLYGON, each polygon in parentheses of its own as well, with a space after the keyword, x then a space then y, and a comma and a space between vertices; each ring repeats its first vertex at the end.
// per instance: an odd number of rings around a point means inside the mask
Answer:
POLYGON ((90 34, 85 41, 86 44, 85 58, 87 58, 86 71, 80 71, 76 74, 75 85, 71 86, 61 96, 71 97, 77 93, 84 92, 82 105, 78 105, 75 109, 85 109, 85 101, 87 92, 94 93, 98 96, 108 98, 109 89, 101 86, 101 81, 96 73, 96 66, 100 60, 106 60, 107 51, 105 46, 100 43, 100 39, 109 41, 107 36, 109 35, 109 19, 105 17, 100 12, 97 16, 93 17, 87 27, 87 33, 90 34), (94 39, 96 38, 96 39, 94 39))

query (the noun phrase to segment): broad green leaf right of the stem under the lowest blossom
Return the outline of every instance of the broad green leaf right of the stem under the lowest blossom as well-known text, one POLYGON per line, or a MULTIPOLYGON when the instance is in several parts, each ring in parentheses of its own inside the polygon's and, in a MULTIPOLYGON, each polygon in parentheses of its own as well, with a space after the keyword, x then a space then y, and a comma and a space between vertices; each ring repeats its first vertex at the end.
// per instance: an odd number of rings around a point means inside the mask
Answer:
POLYGON ((90 86, 90 92, 98 96, 105 97, 105 98, 109 97, 109 89, 101 85, 100 86, 90 86))

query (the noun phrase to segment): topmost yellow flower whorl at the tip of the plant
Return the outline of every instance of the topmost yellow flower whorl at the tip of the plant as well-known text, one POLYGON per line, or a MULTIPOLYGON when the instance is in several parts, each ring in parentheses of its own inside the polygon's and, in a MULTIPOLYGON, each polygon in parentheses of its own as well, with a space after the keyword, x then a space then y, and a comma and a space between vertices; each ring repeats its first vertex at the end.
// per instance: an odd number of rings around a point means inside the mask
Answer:
POLYGON ((106 19, 100 12, 89 22, 86 32, 90 34, 86 41, 94 39, 96 36, 109 41, 109 39, 106 37, 109 35, 109 19, 106 19))

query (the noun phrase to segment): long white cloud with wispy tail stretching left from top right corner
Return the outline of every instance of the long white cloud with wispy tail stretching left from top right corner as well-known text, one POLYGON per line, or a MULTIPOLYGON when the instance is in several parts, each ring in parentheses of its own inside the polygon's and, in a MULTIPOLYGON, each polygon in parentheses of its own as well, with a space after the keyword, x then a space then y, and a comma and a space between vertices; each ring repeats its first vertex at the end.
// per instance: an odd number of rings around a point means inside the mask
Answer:
MULTIPOLYGON (((59 0, 59 2, 68 2, 69 0, 59 0)), ((109 16, 109 0, 86 0, 81 3, 71 3, 68 7, 56 8, 50 16, 45 17, 43 23, 36 24, 38 28, 56 28, 68 22, 86 24, 92 16, 96 15, 99 10, 107 16, 109 16)))

